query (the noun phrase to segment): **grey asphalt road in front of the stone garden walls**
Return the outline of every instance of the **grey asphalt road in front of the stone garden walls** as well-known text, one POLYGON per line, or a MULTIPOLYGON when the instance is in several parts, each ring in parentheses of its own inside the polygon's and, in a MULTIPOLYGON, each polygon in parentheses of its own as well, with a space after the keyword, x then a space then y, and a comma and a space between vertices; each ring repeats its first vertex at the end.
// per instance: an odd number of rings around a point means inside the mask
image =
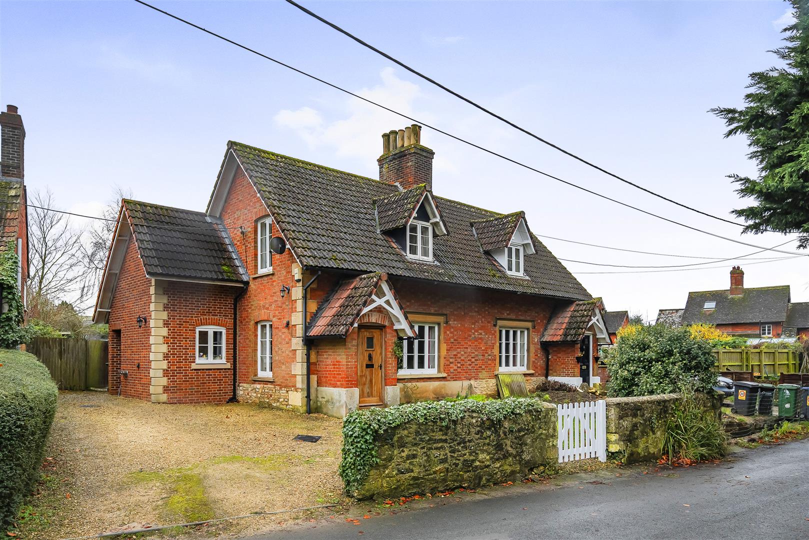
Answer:
POLYGON ((611 469, 564 482, 433 499, 434 508, 360 518, 359 525, 303 522, 253 540, 809 538, 809 440, 744 450, 718 465, 611 469))

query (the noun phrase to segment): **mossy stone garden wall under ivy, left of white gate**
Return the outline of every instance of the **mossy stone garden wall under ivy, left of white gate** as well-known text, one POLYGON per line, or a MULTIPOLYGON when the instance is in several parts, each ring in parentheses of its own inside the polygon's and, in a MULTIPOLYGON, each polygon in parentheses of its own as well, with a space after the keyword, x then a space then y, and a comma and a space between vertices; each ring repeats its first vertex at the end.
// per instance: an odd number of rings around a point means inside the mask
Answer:
POLYGON ((517 482, 557 465, 556 406, 493 422, 470 413, 447 425, 410 421, 376 436, 379 462, 355 493, 397 497, 517 482))

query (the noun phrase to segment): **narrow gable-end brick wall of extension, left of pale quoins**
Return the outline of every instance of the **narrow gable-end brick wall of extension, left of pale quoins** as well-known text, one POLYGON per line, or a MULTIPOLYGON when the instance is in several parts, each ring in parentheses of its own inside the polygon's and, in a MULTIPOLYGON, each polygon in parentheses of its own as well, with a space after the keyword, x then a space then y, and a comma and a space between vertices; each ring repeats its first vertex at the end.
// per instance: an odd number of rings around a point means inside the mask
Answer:
MULTIPOLYGON (((151 280, 146 278, 135 242, 129 240, 109 313, 110 330, 121 330, 120 366, 121 370, 129 372, 129 376, 121 379, 121 395, 128 398, 151 399, 151 332, 148 324, 138 328, 135 321, 139 315, 149 316, 150 287, 151 280)), ((108 373, 108 391, 117 393, 119 373, 112 364, 108 373)))

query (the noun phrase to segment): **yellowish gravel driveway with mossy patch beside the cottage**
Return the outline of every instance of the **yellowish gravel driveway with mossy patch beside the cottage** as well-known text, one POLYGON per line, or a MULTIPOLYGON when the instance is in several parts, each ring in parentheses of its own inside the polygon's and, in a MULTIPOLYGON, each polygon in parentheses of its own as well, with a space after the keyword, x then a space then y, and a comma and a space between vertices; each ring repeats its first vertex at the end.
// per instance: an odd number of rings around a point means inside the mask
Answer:
POLYGON ((337 502, 341 426, 323 415, 246 404, 167 406, 61 392, 47 481, 23 538, 337 502), (322 439, 293 440, 298 434, 322 439))

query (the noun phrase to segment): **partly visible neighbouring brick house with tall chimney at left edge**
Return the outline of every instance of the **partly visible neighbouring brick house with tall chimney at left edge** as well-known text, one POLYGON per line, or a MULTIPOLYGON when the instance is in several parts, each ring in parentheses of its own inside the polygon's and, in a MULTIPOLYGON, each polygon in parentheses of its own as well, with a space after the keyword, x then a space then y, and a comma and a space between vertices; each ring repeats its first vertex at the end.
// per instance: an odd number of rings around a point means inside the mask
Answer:
POLYGON ((0 251, 12 246, 19 263, 17 287, 26 303, 28 281, 28 199, 25 191, 25 127, 14 105, 0 112, 0 251))

